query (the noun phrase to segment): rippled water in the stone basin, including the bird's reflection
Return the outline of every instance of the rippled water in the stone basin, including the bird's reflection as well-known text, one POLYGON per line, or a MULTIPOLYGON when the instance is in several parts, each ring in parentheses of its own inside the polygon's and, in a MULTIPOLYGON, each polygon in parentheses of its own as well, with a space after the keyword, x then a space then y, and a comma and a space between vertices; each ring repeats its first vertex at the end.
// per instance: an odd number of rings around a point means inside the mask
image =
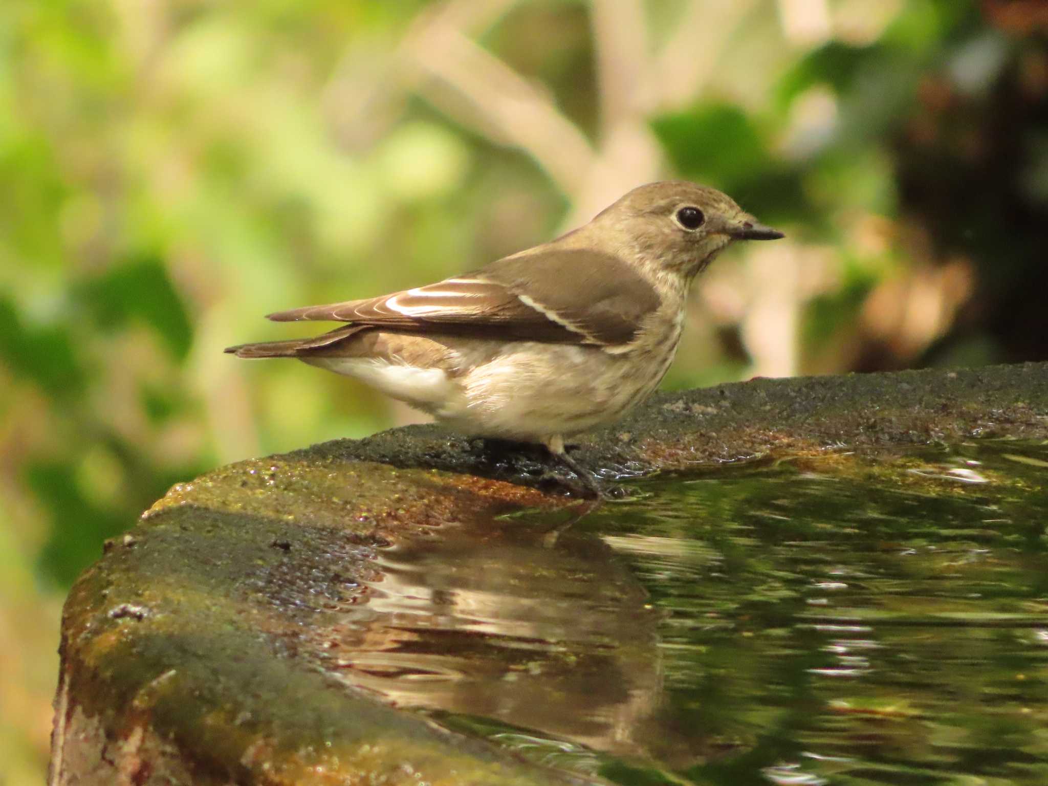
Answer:
POLYGON ((1048 446, 633 488, 387 549, 337 675, 611 783, 1048 783, 1048 446))

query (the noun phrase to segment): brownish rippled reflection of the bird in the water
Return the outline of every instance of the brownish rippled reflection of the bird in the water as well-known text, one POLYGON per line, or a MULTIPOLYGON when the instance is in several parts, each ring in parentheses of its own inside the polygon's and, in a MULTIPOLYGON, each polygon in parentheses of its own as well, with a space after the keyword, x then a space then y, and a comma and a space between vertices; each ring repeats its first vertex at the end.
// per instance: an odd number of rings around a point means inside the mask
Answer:
POLYGON ((326 667, 397 706, 642 756, 659 612, 599 538, 549 531, 456 524, 384 549, 366 601, 325 631, 326 667))

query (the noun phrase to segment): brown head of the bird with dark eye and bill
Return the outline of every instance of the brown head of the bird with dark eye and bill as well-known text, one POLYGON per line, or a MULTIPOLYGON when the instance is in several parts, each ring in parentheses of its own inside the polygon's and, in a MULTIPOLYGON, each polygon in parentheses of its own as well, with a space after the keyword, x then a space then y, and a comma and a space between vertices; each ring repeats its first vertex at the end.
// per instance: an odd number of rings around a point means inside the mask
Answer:
POLYGON ((603 234, 614 237, 623 250, 633 250, 651 264, 686 278, 736 240, 783 237, 743 211, 727 194, 681 180, 636 188, 603 211, 593 223, 603 234))

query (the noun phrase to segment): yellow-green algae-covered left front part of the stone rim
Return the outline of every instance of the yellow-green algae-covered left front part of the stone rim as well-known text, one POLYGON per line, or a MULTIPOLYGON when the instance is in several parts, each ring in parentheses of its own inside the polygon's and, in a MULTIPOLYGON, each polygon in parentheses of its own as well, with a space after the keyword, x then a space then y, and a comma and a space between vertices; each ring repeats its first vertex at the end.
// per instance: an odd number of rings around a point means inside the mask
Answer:
POLYGON ((387 538, 521 501, 541 499, 299 458, 176 486, 70 593, 52 782, 564 783, 348 691, 301 652, 359 601, 387 538))

